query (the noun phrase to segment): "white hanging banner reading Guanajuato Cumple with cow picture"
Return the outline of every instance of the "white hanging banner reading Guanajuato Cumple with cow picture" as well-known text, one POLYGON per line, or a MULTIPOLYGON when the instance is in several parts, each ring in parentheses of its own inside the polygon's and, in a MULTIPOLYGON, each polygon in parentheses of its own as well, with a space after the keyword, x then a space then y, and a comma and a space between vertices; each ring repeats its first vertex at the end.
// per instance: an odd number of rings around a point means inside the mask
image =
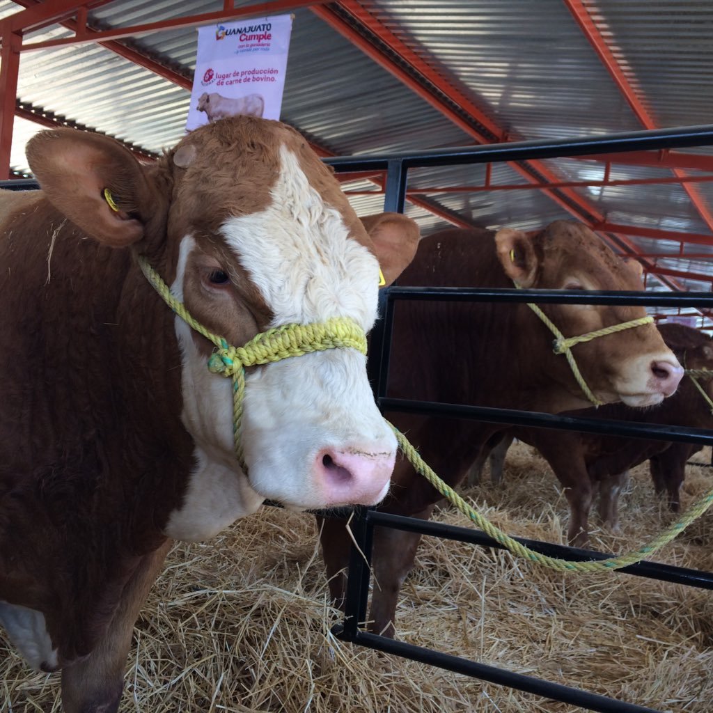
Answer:
POLYGON ((198 54, 185 128, 226 116, 279 119, 292 15, 198 28, 198 54))

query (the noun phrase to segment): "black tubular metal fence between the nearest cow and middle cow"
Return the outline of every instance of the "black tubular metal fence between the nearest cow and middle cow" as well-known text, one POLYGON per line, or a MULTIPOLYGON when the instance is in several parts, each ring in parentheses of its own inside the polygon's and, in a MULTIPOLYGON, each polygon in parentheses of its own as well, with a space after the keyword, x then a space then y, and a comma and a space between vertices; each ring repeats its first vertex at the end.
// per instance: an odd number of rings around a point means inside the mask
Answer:
MULTIPOLYGON (((559 141, 530 141, 506 145, 484 145, 473 148, 457 148, 450 151, 426 151, 408 155, 366 158, 334 158, 326 162, 336 170, 368 171, 386 170, 386 195, 384 210, 404 212, 406 180, 409 168, 424 166, 461 165, 465 163, 493 163, 505 160, 526 160, 616 153, 632 150, 661 150, 713 144, 713 126, 692 126, 673 130, 641 131, 592 139, 559 141)), ((614 434, 650 440, 684 441, 713 445, 713 433, 702 429, 679 426, 636 424, 630 421, 603 421, 600 419, 553 416, 531 411, 435 404, 406 399, 391 399, 386 396, 389 374, 391 330, 394 322, 394 304, 399 299, 460 300, 470 302, 538 302, 560 304, 637 304, 657 307, 702 307, 713 306, 710 292, 566 292, 526 289, 456 289, 427 287, 390 287, 381 291, 381 319, 371 333, 369 350, 369 373, 374 393, 382 411, 405 411, 415 414, 438 415, 459 419, 476 419, 498 424, 520 424, 543 428, 568 429, 590 433, 614 434)), ((583 709, 602 713, 659 713, 650 708, 622 702, 597 694, 584 692, 552 682, 501 670, 473 661, 447 655, 423 647, 399 642, 387 637, 366 632, 359 627, 366 620, 366 605, 369 596, 371 543, 374 527, 388 527, 415 533, 435 535, 441 538, 460 540, 489 548, 502 545, 479 532, 468 528, 456 528, 416 518, 381 513, 371 508, 359 508, 352 518, 352 532, 356 546, 352 547, 347 583, 347 600, 344 622, 334 627, 339 639, 372 649, 389 652, 416 661, 483 679, 488 682, 538 694, 548 699, 575 704, 583 709), (359 551, 361 550, 361 551, 359 551)), ((517 539, 517 538, 515 538, 517 539)), ((529 548, 565 560, 605 559, 612 555, 590 550, 563 547, 550 543, 520 540, 529 548)), ((659 563, 640 562, 622 570, 622 574, 637 575, 665 580, 692 587, 713 589, 713 573, 672 567, 659 563)))

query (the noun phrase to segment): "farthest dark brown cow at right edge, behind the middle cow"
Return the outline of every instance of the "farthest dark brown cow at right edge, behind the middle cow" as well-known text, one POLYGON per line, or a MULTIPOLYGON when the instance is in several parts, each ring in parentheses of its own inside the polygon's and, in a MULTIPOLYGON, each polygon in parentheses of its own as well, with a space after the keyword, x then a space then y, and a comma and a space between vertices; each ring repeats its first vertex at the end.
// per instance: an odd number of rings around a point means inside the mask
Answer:
MULTIPOLYGON (((713 370, 713 342, 707 334, 681 324, 661 324, 659 331, 666 344, 687 369, 713 370)), ((713 398, 712 377, 699 378, 700 386, 713 398)), ((678 390, 654 409, 630 409, 623 404, 607 404, 600 409, 571 411, 568 416, 588 419, 637 421, 645 424, 669 424, 697 429, 713 429, 711 406, 689 376, 684 376, 678 390)), ((604 523, 619 524, 618 498, 625 481, 625 471, 650 459, 650 471, 657 493, 668 493, 672 511, 680 507, 679 491, 686 461, 702 448, 692 443, 648 441, 645 438, 617 438, 600 434, 530 429, 515 426, 503 434, 491 456, 491 478, 500 482, 505 451, 513 438, 540 451, 565 488, 570 504, 568 538, 577 546, 588 540, 588 515, 594 489, 600 494, 599 514, 604 523)))

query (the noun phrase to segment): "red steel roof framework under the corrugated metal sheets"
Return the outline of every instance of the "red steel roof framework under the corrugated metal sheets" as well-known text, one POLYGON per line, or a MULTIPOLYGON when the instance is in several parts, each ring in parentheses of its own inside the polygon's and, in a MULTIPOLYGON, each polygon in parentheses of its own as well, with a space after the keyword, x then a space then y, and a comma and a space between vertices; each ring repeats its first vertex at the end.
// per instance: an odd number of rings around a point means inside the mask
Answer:
MULTIPOLYGON (((272 14, 277 11, 289 11, 289 9, 296 9, 297 7, 303 6, 310 6, 314 14, 317 14, 317 16, 339 31, 340 34, 346 36, 349 41, 361 48, 362 51, 379 63, 380 66, 386 68, 387 71, 396 76, 401 83, 409 86, 412 91, 415 91, 421 98, 428 101, 431 106, 434 106, 444 116, 448 117, 453 123, 456 123, 456 125, 466 131, 468 135, 471 135, 476 142, 498 143, 503 140, 508 140, 508 138, 514 138, 512 136, 508 137, 503 128, 490 117, 486 116, 478 106, 476 106, 477 98, 473 98, 471 91, 467 88, 460 88, 456 79, 444 77, 441 71, 436 71, 428 61, 428 53, 416 53, 412 48, 406 46, 396 35, 377 21, 374 16, 371 16, 364 6, 356 0, 340 0, 329 5, 326 5, 326 0, 274 0, 270 4, 253 4, 240 9, 235 9, 232 6, 232 0, 224 0, 222 11, 182 17, 158 23, 124 27, 116 30, 98 31, 88 25, 87 11, 106 4, 108 1, 111 0, 85 2, 81 2, 81 0, 52 0, 46 2, 39 0, 18 0, 18 4, 24 5, 26 9, 10 16, 0 24, 0 33, 3 36, 0 88, 2 89, 1 96, 4 98, 3 111, 0 116, 0 152, 2 154, 0 156, 0 167, 9 165, 12 116, 14 113, 22 112, 21 109, 16 109, 14 105, 17 82, 16 71, 20 51, 41 49, 67 43, 98 42, 105 48, 128 59, 128 61, 148 68, 150 71, 163 76, 178 86, 190 89, 190 78, 176 73, 161 63, 144 56, 135 48, 129 48, 116 40, 120 37, 138 36, 158 29, 210 24, 211 22, 221 19, 234 19, 240 16, 265 14, 266 12, 272 14), (71 39, 47 43, 22 43, 23 32, 41 29, 42 27, 58 22, 72 29, 75 32, 75 36, 71 39), (7 41, 8 39, 9 41, 7 41)), ((582 2, 580 0, 565 0, 565 4, 567 4, 573 16, 575 16, 575 19, 577 19, 580 27, 585 31, 590 43, 593 43, 595 51, 597 51, 597 54, 602 58, 602 61, 605 62, 612 78, 617 82, 617 86, 625 93, 627 101, 630 102, 630 106, 632 106, 632 109, 634 109, 637 116, 642 120, 642 124, 645 125, 646 128, 656 128, 655 123, 647 114, 642 101, 640 101, 640 98, 636 96, 628 84, 621 68, 617 66, 614 56, 602 36, 598 33, 582 2)), ((40 123, 52 123, 51 119, 48 120, 46 118, 37 117, 31 113, 24 113, 24 116, 32 120, 38 120, 40 123)), ((327 151, 320 149, 318 146, 314 148, 318 150, 320 155, 329 155, 327 151)), ((694 168, 713 171, 713 157, 665 151, 580 158, 582 158, 582 160, 600 160, 607 163, 656 165, 660 168, 671 168, 675 172, 675 178, 658 182, 682 183, 684 188, 689 192, 691 200, 694 202, 694 205, 696 205, 703 219, 713 228, 713 216, 710 215, 707 206, 695 192, 694 186, 690 185, 704 180, 711 180, 711 177, 689 177, 682 173, 681 170, 682 168, 694 168)), ((605 217, 600 214, 594 205, 572 190, 582 185, 626 185, 632 182, 613 182, 609 180, 587 184, 583 182, 565 182, 559 180, 541 161, 520 162, 511 165, 520 175, 523 175, 529 185, 492 187, 490 190, 523 190, 525 188, 532 188, 545 191, 550 198, 558 202, 561 207, 577 217, 578 220, 582 220, 600 232, 615 233, 617 245, 619 247, 623 246, 625 251, 630 255, 639 257, 645 270, 652 273, 657 272, 656 265, 649 262, 647 259, 649 256, 643 255, 637 250, 637 247, 626 239, 626 235, 674 240, 682 243, 692 242, 694 244, 704 245, 713 243, 713 237, 708 235, 672 233, 665 230, 612 225, 606 222, 605 217)), ((608 169, 605 175, 608 176, 608 169)), ((348 180, 349 178, 355 177, 344 177, 344 180, 348 180)), ((383 186, 383 177, 371 175, 368 178, 373 181, 377 187, 383 186)), ((638 183, 643 182, 644 181, 639 181, 638 183)), ((456 190, 458 190, 458 188, 463 187, 456 187, 456 190)), ((409 193, 409 202, 420 205, 425 210, 440 215, 450 222, 458 223, 460 221, 458 221, 457 217, 453 216, 451 212, 445 209, 442 211, 438 210, 437 205, 434 205, 433 202, 427 200, 427 198, 422 195, 424 193, 436 193, 443 190, 453 189, 441 188, 435 189, 434 191, 427 191, 425 189, 411 191, 409 193)), ((476 190, 484 189, 483 187, 478 187, 476 190)), ((467 225, 467 222, 462 221, 460 224, 467 225)), ((604 237, 607 236, 605 235, 604 237)), ((609 238, 609 242, 612 242, 611 238, 609 238)), ((689 275, 689 273, 681 272, 679 276, 684 277, 686 275, 689 275)), ((694 277, 693 274, 689 276, 692 279, 698 279, 699 277, 698 275, 694 277)), ((679 289, 680 287, 672 280, 664 279, 662 281, 664 281, 668 287, 674 289, 679 289)))

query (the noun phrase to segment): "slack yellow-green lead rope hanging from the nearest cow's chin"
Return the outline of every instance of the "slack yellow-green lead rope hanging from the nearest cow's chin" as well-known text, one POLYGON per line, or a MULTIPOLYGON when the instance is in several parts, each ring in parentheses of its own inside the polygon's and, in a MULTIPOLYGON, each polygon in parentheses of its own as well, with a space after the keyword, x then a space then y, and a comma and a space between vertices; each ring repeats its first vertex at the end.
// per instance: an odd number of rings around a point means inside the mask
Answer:
MULTIPOLYGON (((391 425, 391 424, 389 424, 391 425)), ((568 560, 560 560, 554 557, 548 557, 547 555, 540 555, 530 548, 521 545, 517 540, 513 540, 509 535, 503 533, 503 530, 496 528, 493 523, 476 513, 476 511, 471 508, 471 506, 466 503, 466 501, 461 498, 461 496, 456 493, 450 486, 443 483, 441 478, 436 476, 436 473, 429 468, 429 466, 424 463, 423 459, 416 452, 414 446, 406 440, 406 436, 401 434, 401 432, 394 426, 394 434, 396 434, 396 440, 399 441, 399 447, 401 451, 404 452, 406 458, 409 458, 409 462, 416 473, 424 476, 429 483, 431 483, 436 490, 441 493, 441 495, 448 498, 451 503, 453 503, 456 508, 458 508, 463 515, 466 515, 473 523, 475 523, 478 528, 481 528, 484 533, 490 535, 493 540, 497 540, 503 547, 513 553, 513 555, 518 555, 518 557, 523 557, 531 562, 535 562, 538 565, 543 565, 549 569, 557 570, 558 572, 603 572, 606 570, 619 570, 622 567, 627 567, 628 565, 633 565, 647 556, 650 556, 660 550, 664 545, 670 543, 670 541, 676 537, 679 533, 682 533, 685 528, 688 527, 694 520, 699 518, 707 509, 713 504, 713 490, 706 493, 702 498, 699 498, 689 510, 682 515, 682 518, 678 520, 677 523, 667 527, 660 535, 657 536, 651 543, 645 547, 639 548, 634 552, 630 552, 626 555, 621 555, 620 557, 613 557, 608 560, 592 560, 589 562, 568 562, 568 560)))

